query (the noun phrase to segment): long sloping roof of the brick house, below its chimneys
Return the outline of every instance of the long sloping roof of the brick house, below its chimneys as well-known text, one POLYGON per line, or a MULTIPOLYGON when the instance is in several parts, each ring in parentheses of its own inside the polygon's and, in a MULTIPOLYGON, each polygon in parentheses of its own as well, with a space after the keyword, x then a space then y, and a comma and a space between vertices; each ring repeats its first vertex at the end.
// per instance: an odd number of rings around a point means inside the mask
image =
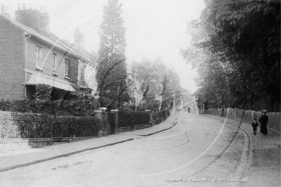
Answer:
MULTIPOLYGON (((24 30, 25 32, 27 32, 27 34, 32 34, 32 36, 37 37, 38 39, 41 39, 42 41, 44 41, 48 44, 51 44, 54 47, 62 49, 63 51, 67 51, 68 53, 72 54, 73 56, 77 56, 77 58, 83 58, 84 60, 87 60, 87 57, 84 54, 76 51, 73 48, 73 44, 70 44, 70 42, 60 39, 59 37, 56 37, 55 34, 50 32, 50 37, 46 37, 43 34, 40 34, 36 30, 32 29, 31 27, 27 27, 26 25, 24 25, 16 20, 8 18, 7 16, 3 15, 2 13, 0 13, 0 16, 2 16, 3 18, 5 18, 9 22, 11 22, 13 25, 20 28, 21 30, 24 30)), ((96 58, 96 57, 94 57, 94 58, 96 58)), ((87 60, 87 61, 89 61, 89 60, 87 60)), ((93 64, 93 65, 95 65, 95 64, 93 64)))

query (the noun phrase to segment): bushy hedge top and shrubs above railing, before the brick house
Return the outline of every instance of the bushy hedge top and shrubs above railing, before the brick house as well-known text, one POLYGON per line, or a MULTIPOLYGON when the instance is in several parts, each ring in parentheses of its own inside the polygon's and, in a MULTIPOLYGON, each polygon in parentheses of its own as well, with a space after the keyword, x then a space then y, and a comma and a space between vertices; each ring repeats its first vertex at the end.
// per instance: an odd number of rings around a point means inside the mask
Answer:
MULTIPOLYGON (((77 89, 77 88, 76 88, 77 89)), ((11 112, 32 112, 46 115, 73 115, 94 116, 98 109, 98 102, 91 93, 86 91, 73 91, 71 98, 54 100, 54 89, 45 84, 38 84, 34 95, 35 99, 17 101, 0 101, 0 110, 11 112)))

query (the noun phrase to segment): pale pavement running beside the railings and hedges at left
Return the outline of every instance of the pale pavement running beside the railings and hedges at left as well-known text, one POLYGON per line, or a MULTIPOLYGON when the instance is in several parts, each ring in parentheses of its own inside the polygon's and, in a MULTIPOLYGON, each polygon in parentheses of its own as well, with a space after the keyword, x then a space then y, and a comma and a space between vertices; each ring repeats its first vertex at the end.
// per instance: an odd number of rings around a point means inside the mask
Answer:
POLYGON ((39 162, 53 160, 58 157, 67 157, 87 150, 112 146, 125 141, 132 141, 136 138, 141 138, 142 136, 155 134, 159 131, 169 129, 173 127, 173 122, 173 115, 170 115, 170 117, 168 117, 166 121, 161 122, 161 124, 157 124, 146 129, 126 131, 119 134, 91 138, 84 141, 54 144, 44 148, 29 148, 4 153, 0 155, 0 172, 5 172, 18 167, 34 165, 39 162))

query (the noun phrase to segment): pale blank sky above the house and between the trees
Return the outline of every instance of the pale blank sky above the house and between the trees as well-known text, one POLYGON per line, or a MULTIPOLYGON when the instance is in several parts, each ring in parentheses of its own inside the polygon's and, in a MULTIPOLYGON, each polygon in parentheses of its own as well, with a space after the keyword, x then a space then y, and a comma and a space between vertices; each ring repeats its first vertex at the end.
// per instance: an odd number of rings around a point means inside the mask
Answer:
MULTIPOLYGON (((99 25, 107 0, 0 0, 14 18, 18 4, 38 8, 46 6, 50 15, 50 31, 73 43, 75 27, 85 34, 85 48, 99 50, 99 25)), ((186 22, 199 18, 203 0, 119 0, 123 4, 123 20, 127 42, 127 61, 162 58, 163 63, 180 75, 183 88, 192 93, 196 70, 180 54, 190 37, 186 22)))

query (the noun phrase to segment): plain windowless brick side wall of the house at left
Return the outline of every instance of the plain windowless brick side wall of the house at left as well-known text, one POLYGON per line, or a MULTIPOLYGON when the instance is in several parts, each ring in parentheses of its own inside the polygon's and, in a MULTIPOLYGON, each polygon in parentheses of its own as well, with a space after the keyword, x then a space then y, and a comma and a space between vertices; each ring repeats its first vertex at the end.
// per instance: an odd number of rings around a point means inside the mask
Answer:
POLYGON ((0 15, 0 99, 25 97, 25 36, 0 15))

